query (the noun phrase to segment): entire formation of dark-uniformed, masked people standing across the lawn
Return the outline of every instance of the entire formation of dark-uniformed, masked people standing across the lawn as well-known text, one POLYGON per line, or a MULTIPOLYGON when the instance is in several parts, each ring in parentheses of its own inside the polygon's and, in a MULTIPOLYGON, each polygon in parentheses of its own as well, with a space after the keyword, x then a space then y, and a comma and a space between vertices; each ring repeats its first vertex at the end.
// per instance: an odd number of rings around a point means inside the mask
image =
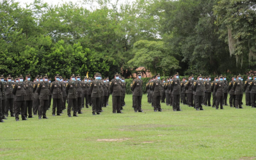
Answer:
MULTIPOLYGON (((112 94, 113 113, 123 113, 125 106, 125 79, 116 73, 115 78, 109 81, 108 77, 102 78, 100 73, 95 73, 94 78, 79 74, 72 74, 70 79, 54 76, 51 81, 49 76, 36 76, 31 81, 31 74, 19 75, 13 79, 11 75, 0 76, 0 122, 10 116, 15 116, 19 121, 33 118, 47 118, 46 112, 52 104, 52 116, 60 116, 67 106, 67 115, 78 116, 83 114, 81 109, 92 106, 92 115, 100 115, 102 108, 108 106, 109 95, 112 94)), ((216 76, 213 81, 211 76, 196 76, 179 78, 179 73, 166 79, 161 79, 157 74, 146 84, 148 103, 152 104, 154 111, 162 111, 161 102, 172 106, 173 111, 182 111, 180 103, 196 110, 204 110, 203 106, 223 109, 228 106, 227 97, 230 94, 230 107, 243 108, 243 93, 246 94, 246 106, 256 108, 256 76, 248 75, 243 82, 241 75, 232 76, 230 82, 226 76, 216 76), (212 96, 212 105, 211 105, 212 96)), ((134 112, 143 112, 141 99, 143 96, 143 81, 141 73, 136 75, 131 83, 132 108, 134 112)))

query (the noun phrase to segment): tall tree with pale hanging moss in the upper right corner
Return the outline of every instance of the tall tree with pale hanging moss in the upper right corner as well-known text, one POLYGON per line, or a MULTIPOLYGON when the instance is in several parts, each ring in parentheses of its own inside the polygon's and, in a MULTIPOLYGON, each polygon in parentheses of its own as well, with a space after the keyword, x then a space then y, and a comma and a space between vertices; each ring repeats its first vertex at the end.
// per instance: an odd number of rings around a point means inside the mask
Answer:
POLYGON ((244 56, 256 58, 256 3, 254 0, 221 0, 214 6, 220 38, 228 42, 230 56, 243 65, 244 56))

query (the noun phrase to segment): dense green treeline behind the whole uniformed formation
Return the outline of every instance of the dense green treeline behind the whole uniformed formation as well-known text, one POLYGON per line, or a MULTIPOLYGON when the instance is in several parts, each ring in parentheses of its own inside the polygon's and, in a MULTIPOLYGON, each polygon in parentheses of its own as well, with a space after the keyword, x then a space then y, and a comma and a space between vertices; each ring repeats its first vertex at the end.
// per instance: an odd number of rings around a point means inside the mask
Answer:
POLYGON ((0 1, 0 73, 244 74, 256 67, 255 1, 0 1))

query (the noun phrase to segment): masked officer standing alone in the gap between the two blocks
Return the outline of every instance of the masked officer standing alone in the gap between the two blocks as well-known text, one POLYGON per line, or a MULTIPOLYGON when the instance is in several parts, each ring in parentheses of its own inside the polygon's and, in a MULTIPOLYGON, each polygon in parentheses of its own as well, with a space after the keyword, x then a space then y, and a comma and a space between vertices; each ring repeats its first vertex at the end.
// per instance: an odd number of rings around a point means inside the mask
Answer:
POLYGON ((141 80, 141 73, 137 73, 136 79, 133 80, 132 83, 132 104, 134 105, 134 112, 143 112, 141 109, 141 99, 142 99, 142 86, 143 81, 141 80))

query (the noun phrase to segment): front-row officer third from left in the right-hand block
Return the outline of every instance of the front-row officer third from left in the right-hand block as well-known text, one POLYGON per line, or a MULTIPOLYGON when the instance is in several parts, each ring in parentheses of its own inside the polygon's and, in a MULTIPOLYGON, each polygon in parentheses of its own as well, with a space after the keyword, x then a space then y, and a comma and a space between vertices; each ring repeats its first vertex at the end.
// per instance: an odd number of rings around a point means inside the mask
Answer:
POLYGON ((202 76, 197 77, 197 81, 194 81, 193 90, 195 92, 195 109, 196 111, 204 110, 202 106, 203 96, 204 96, 204 81, 202 76))

